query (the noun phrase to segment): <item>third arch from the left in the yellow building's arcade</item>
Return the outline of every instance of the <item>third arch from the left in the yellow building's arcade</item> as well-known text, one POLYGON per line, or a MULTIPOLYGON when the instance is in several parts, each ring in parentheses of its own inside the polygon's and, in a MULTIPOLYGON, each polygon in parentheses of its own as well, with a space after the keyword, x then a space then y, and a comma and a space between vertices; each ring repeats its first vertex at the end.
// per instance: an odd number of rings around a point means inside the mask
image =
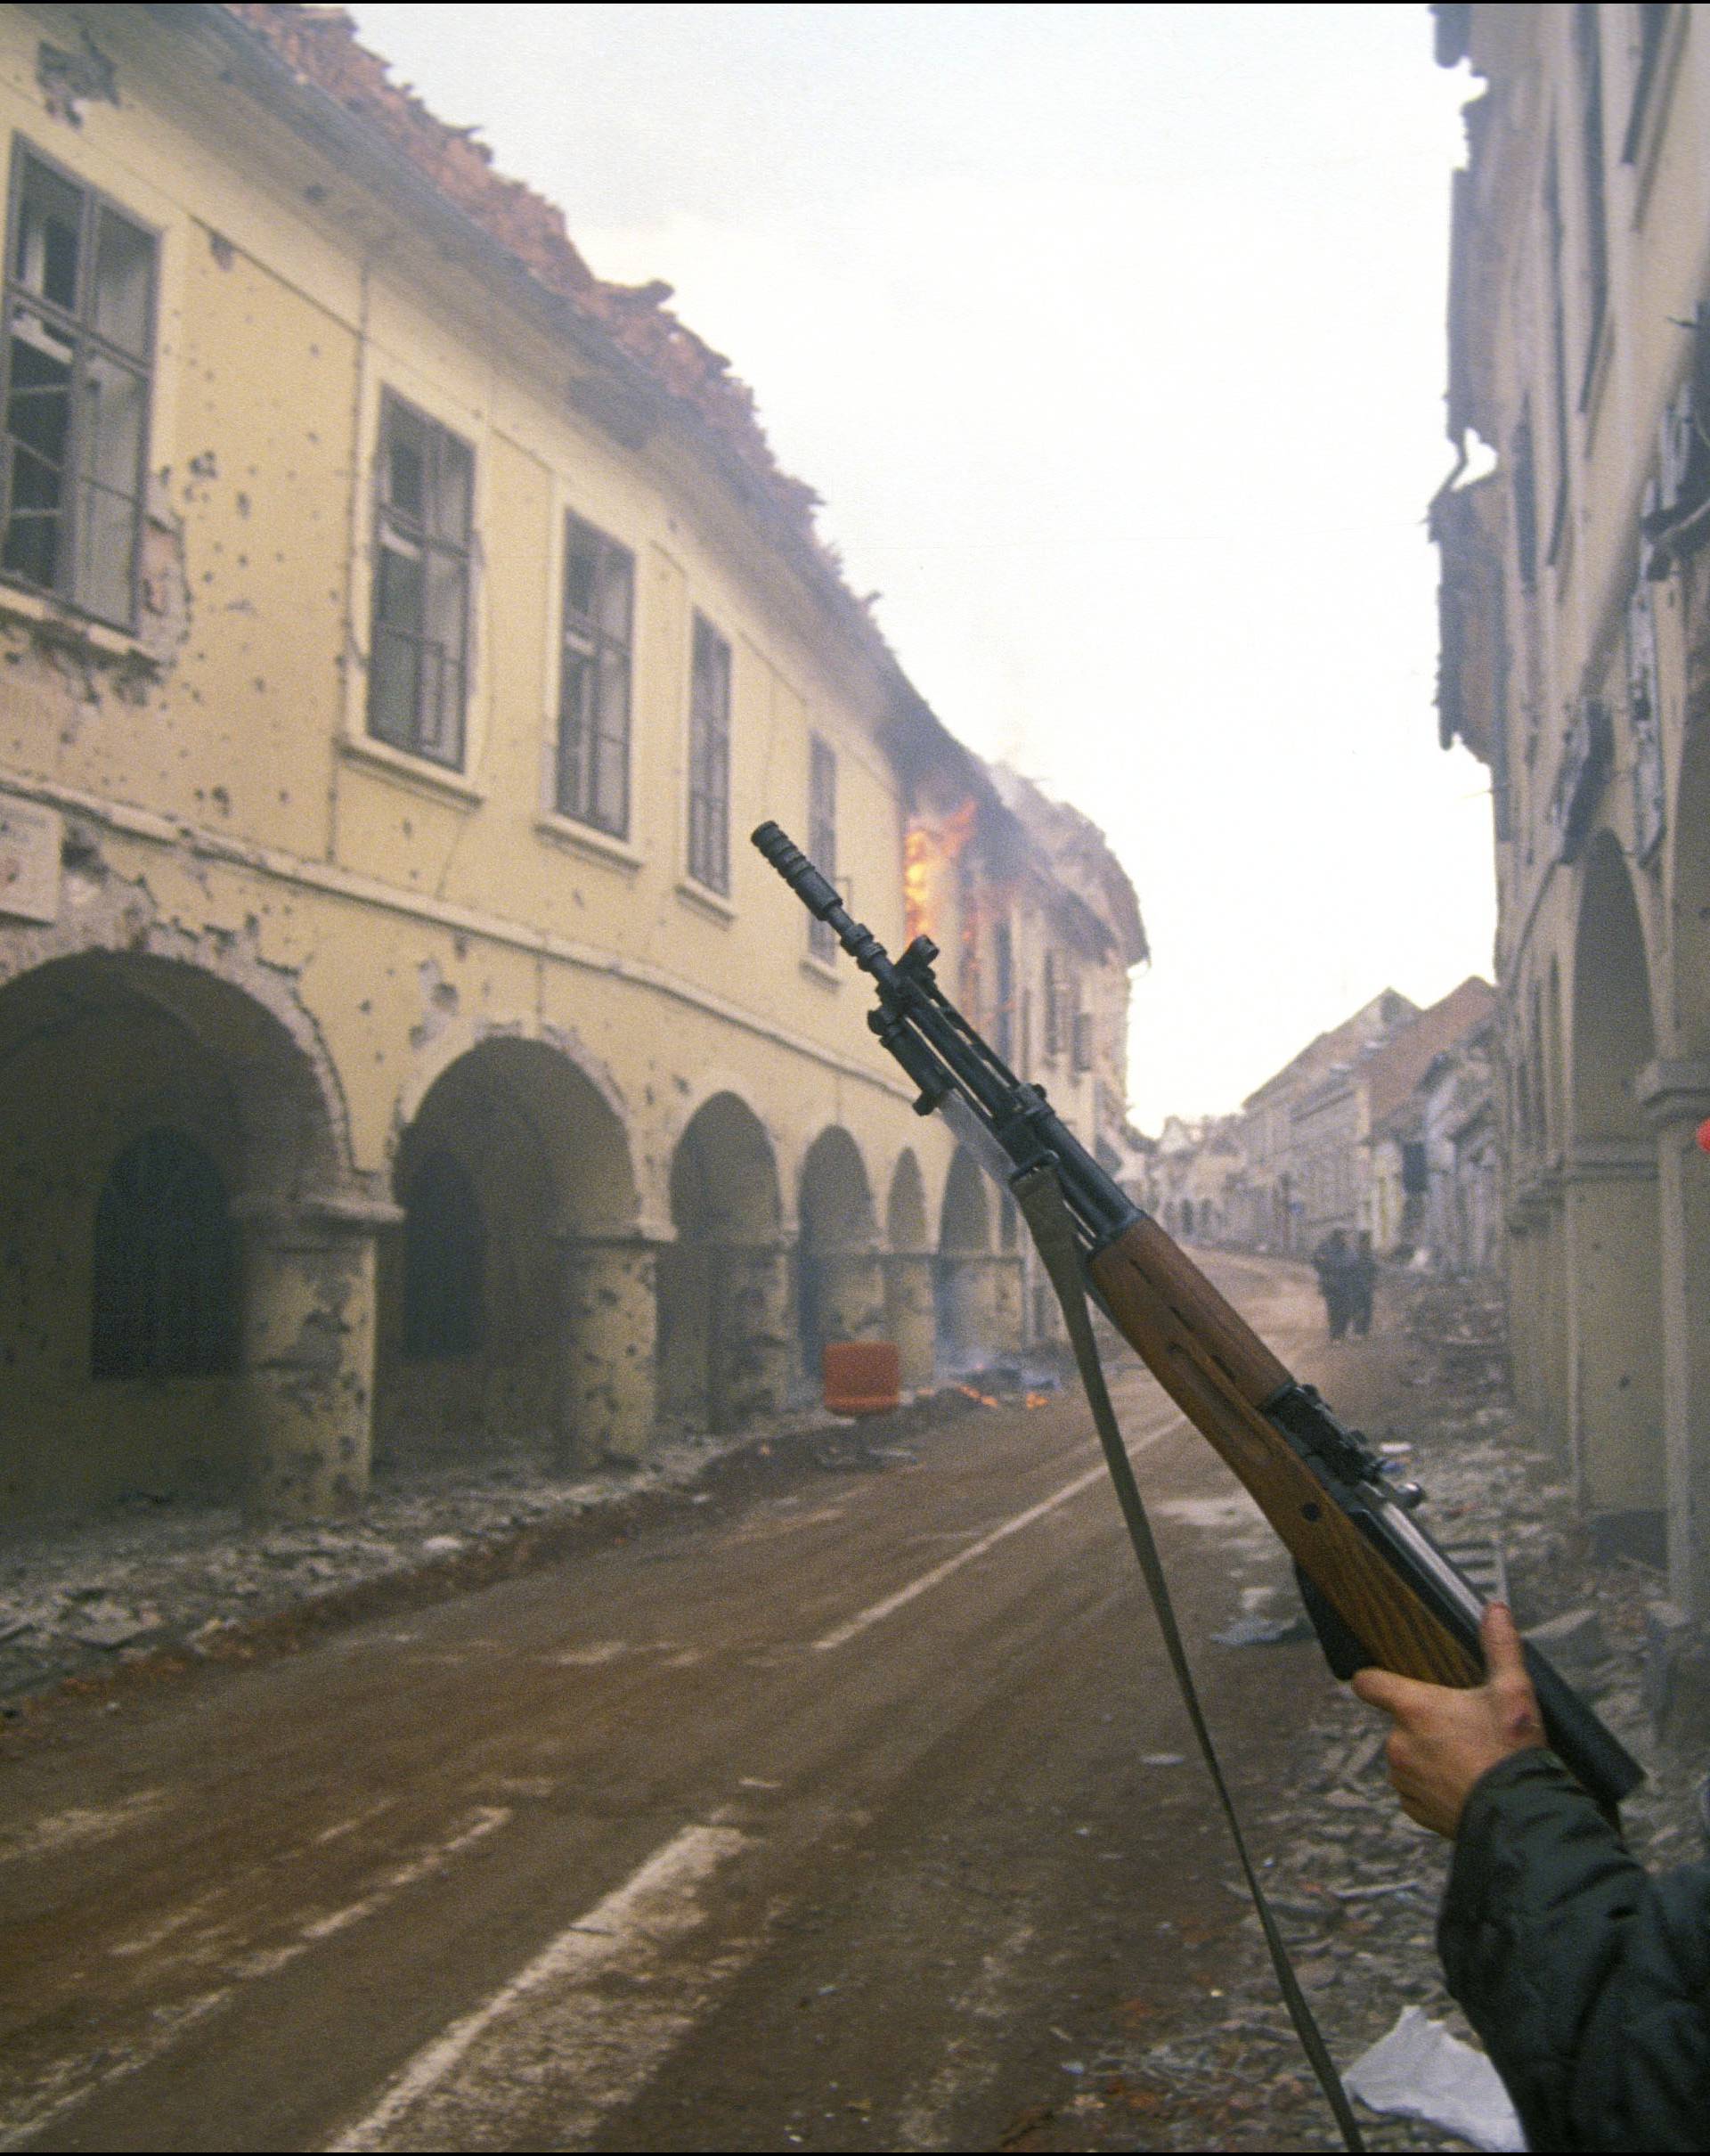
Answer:
POLYGON ((675 1242, 660 1253, 660 1412, 742 1429, 781 1410, 791 1371, 791 1279, 778 1162, 766 1125, 712 1093, 671 1156, 675 1242))

